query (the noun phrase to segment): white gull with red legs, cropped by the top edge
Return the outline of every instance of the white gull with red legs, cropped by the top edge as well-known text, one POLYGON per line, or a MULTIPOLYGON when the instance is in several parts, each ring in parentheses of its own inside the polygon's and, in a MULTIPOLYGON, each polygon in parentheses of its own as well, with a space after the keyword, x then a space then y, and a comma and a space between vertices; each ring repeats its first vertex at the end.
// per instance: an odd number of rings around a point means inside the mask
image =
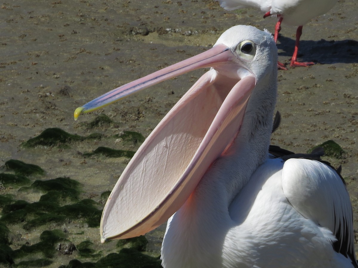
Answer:
MULTIPOLYGON (((313 62, 298 62, 297 53, 302 35, 302 27, 310 19, 327 13, 337 3, 337 0, 218 0, 226 10, 251 6, 265 12, 263 18, 275 15, 279 18, 275 27, 274 39, 277 42, 281 30, 281 22, 290 26, 298 26, 296 30, 295 50, 291 58, 290 66, 310 66, 313 62)), ((284 64, 279 62, 279 68, 287 70, 284 64)))

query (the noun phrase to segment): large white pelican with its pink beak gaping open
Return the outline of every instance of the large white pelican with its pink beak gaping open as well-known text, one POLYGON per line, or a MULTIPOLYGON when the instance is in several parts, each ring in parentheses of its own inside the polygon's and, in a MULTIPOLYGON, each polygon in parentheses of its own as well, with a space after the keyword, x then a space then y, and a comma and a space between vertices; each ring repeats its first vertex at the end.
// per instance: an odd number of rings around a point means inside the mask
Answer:
POLYGON ((138 149, 103 210, 101 241, 168 220, 165 268, 358 267, 341 177, 317 160, 268 153, 277 94, 268 31, 238 25, 213 48, 79 107, 93 111, 160 81, 212 67, 138 149))

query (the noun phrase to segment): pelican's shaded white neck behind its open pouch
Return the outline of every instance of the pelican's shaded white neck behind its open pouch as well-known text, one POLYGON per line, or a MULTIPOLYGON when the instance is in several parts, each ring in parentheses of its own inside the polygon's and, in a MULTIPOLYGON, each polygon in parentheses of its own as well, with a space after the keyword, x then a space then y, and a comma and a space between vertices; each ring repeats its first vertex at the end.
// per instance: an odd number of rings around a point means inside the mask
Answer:
POLYGON ((268 155, 276 103, 277 70, 260 81, 250 96, 241 129, 233 144, 213 163, 190 198, 169 219, 162 245, 163 264, 170 262, 168 267, 222 265, 222 239, 233 224, 228 207, 268 155), (198 252, 198 248, 211 250, 198 252), (213 252, 220 255, 216 256, 213 252), (171 259, 166 260, 166 256, 171 259))

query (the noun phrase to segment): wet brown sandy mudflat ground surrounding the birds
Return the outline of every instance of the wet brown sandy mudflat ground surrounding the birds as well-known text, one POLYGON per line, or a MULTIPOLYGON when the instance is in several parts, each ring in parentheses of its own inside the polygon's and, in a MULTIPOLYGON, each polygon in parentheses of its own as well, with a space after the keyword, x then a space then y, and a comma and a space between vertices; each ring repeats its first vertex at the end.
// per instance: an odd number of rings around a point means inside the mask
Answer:
MULTIPOLYGON (((299 60, 313 60, 317 64, 309 68, 287 65, 289 70, 279 71, 277 109, 282 114, 282 123, 272 135, 272 144, 297 153, 305 153, 327 140, 334 140, 343 148, 339 158, 325 160, 336 167, 342 165, 353 204, 355 229, 358 227, 356 10, 355 1, 339 0, 326 15, 304 26, 299 60)), ((81 115, 78 121, 73 120, 74 109, 112 88, 199 54, 233 25, 249 24, 274 31, 276 19, 262 19, 262 15, 255 9, 228 12, 211 0, 2 3, 0 172, 20 174, 5 164, 16 159, 38 165, 45 173, 25 174, 28 180, 24 179, 23 184, 3 182, 0 187, 0 238, 7 250, 6 254, 0 252, 3 254, 0 265, 104 267, 106 260, 115 262, 117 267, 144 267, 146 262, 146 267, 158 267, 163 226, 146 236, 149 240, 146 247, 146 242, 144 246, 129 242, 100 244, 98 217, 108 191, 129 158, 85 154, 98 147, 135 151, 141 139, 125 139, 126 131, 147 137, 205 70, 81 115), (103 114, 108 116, 105 120, 103 114), (21 145, 48 128, 60 128, 81 137, 98 134, 92 139, 66 138, 64 142, 34 148, 21 145), (36 186, 59 177, 68 178, 69 184, 51 189, 36 186), (59 188, 63 194, 51 200, 59 188), (77 192, 71 192, 75 188, 77 192), (44 200, 48 200, 49 207, 41 203, 44 200), (71 216, 64 212, 66 208, 75 210, 66 206, 83 204, 93 210, 81 214, 79 209, 71 216), (54 209, 58 217, 51 214, 54 209), (55 237, 49 239, 52 242, 45 239, 49 234, 55 237), (52 250, 45 252, 44 248, 52 250), (132 266, 120 263, 121 254, 134 256, 132 266)), ((294 27, 282 24, 278 43, 282 63, 289 63, 294 35, 294 27)), ((112 264, 107 267, 116 267, 112 264)))

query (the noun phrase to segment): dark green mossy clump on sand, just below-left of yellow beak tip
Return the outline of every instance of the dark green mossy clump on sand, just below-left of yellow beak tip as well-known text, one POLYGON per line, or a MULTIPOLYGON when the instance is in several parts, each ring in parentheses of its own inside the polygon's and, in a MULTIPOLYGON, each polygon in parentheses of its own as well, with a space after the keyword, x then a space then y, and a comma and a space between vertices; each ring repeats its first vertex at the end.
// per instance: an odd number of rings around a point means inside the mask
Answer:
POLYGON ((37 146, 47 147, 68 147, 68 143, 73 141, 82 141, 84 137, 77 134, 69 134, 61 128, 48 128, 42 131, 40 135, 21 143, 25 148, 34 148, 37 146))

